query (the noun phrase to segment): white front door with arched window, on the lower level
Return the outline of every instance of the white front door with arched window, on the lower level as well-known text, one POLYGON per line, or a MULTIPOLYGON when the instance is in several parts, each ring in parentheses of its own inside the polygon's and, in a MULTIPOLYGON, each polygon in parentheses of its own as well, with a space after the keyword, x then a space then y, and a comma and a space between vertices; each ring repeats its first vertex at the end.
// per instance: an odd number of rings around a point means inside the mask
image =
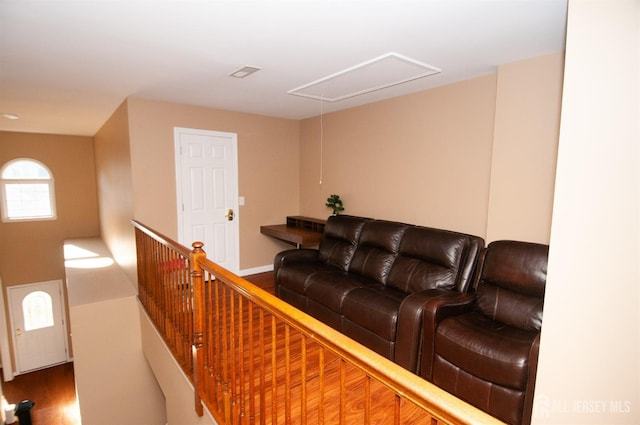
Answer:
POLYGON ((16 373, 68 360, 62 281, 7 288, 16 373))

